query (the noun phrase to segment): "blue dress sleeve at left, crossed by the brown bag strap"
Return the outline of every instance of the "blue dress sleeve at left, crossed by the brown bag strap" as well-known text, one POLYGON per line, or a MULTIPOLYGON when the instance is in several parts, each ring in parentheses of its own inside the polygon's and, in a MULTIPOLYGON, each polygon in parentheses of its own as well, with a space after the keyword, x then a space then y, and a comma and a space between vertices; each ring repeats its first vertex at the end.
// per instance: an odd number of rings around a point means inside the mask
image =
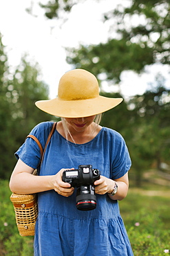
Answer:
MULTIPOLYGON (((36 136, 41 146, 45 147, 45 142, 47 140, 47 136, 50 133, 50 122, 41 122, 39 125, 36 125, 34 129, 30 132, 30 134, 36 136)), ((17 152, 14 154, 17 159, 21 159, 23 163, 26 165, 36 169, 41 160, 41 152, 39 146, 32 138, 27 138, 25 143, 19 147, 17 152)))

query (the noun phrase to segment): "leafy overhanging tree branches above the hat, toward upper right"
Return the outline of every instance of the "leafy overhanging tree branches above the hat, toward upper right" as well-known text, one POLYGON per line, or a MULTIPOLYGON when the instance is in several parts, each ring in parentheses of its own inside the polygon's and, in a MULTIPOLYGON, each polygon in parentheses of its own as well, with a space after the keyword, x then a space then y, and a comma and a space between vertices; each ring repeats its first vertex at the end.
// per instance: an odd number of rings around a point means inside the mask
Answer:
MULTIPOLYGON (((79 1, 83 3, 85 0, 79 1)), ((74 0, 48 1, 41 4, 49 19, 61 19, 78 4, 74 0)), ((125 70, 142 72, 146 65, 169 64, 170 3, 168 0, 129 1, 129 7, 118 8, 103 14, 103 21, 111 24, 114 35, 105 44, 80 45, 67 48, 67 62, 92 71, 105 73, 107 80, 120 81, 125 70)))

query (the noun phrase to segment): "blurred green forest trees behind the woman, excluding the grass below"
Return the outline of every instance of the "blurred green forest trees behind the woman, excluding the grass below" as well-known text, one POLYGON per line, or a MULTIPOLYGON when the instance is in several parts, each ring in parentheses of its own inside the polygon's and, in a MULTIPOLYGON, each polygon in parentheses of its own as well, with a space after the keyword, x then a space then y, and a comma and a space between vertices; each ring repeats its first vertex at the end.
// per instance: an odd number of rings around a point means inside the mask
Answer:
MULTIPOLYGON (((40 5, 47 19, 64 22, 76 2, 49 1, 40 5)), ((31 14, 31 8, 27 12, 31 14)), ((121 97, 118 85, 123 71, 143 73, 147 65, 169 65, 169 1, 134 0, 129 8, 120 5, 103 14, 103 22, 108 20, 111 27, 107 42, 65 49, 67 63, 72 68, 85 68, 94 73, 100 84, 105 80, 117 86, 116 93, 106 93, 101 86, 100 94, 121 97), (135 24, 131 22, 134 18, 138 20, 135 24)), ((2 37, 0 34, 0 178, 9 179, 16 163, 13 154, 25 136, 37 123, 56 118, 34 106, 36 100, 47 99, 49 95, 47 84, 41 80, 39 64, 28 61, 25 55, 16 70, 12 70, 2 37)), ((103 116, 102 125, 119 131, 127 142, 136 185, 141 185, 145 171, 154 170, 156 176, 166 176, 167 180, 170 175, 170 95, 164 82, 158 73, 143 95, 125 99, 103 116)))

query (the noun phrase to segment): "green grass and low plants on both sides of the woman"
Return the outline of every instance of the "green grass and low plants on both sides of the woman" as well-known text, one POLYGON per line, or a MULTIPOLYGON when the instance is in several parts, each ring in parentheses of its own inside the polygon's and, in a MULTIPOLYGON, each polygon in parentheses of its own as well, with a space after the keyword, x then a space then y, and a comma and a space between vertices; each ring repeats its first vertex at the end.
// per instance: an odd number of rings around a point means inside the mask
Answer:
MULTIPOLYGON (((10 194, 8 181, 0 180, 0 256, 32 256, 33 238, 19 236, 10 194)), ((131 185, 127 198, 120 201, 135 256, 169 255, 169 199, 170 188, 143 183, 141 189, 131 185), (158 196, 150 196, 151 191, 158 196)))

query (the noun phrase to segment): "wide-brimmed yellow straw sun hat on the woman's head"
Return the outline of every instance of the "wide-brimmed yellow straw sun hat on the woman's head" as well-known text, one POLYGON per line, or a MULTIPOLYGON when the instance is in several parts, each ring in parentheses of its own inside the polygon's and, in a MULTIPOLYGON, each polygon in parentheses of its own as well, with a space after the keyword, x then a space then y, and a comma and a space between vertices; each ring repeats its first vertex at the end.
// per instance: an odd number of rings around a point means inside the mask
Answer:
POLYGON ((112 109, 122 100, 100 96, 96 77, 84 69, 77 68, 61 77, 58 98, 39 100, 35 104, 53 116, 83 118, 112 109))

